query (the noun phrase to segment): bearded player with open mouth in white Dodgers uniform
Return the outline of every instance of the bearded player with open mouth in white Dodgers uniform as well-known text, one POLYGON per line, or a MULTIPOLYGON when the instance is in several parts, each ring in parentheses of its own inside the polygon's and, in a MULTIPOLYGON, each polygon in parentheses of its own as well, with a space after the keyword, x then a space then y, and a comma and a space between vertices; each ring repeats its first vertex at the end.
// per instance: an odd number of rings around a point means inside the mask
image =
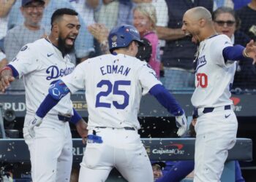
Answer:
MULTIPOLYGON (((78 36, 78 13, 72 9, 57 9, 52 16, 52 31, 46 39, 26 44, 1 70, 0 89, 4 90, 15 78, 24 77, 26 117, 23 137, 29 146, 32 180, 69 181, 72 167, 72 138, 69 121, 76 124, 79 134, 87 135, 87 124, 72 108, 66 95, 44 119, 40 127, 29 131, 39 104, 48 95, 50 84, 70 74, 74 69, 69 55, 78 36)), ((38 123, 37 123, 38 124, 38 123)))

